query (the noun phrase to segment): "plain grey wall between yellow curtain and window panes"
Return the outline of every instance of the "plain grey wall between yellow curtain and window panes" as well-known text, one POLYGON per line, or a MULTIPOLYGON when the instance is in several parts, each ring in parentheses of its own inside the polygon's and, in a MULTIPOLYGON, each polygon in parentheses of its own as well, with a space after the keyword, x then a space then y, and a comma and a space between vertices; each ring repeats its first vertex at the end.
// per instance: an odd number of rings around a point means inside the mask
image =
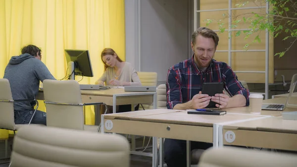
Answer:
POLYGON ((157 72, 158 82, 164 83, 168 69, 191 55, 189 3, 125 0, 126 61, 136 70, 157 72))

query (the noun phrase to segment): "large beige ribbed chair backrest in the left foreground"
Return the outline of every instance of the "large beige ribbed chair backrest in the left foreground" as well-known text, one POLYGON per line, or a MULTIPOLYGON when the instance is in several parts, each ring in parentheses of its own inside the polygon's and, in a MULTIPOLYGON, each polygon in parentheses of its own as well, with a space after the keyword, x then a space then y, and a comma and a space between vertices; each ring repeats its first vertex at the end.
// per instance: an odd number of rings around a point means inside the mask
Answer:
POLYGON ((120 135, 31 125, 14 137, 11 167, 129 167, 129 154, 120 135))

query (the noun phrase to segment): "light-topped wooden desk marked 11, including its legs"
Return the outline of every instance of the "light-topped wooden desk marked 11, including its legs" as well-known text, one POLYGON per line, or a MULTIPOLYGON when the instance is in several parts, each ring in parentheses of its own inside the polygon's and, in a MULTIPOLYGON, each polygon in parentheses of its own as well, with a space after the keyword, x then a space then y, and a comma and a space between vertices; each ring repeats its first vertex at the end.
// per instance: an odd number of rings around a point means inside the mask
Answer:
MULTIPOLYGON (((157 109, 125 113, 105 114, 101 116, 101 132, 124 133, 142 136, 153 136, 152 164, 157 160, 156 137, 160 137, 159 152, 163 151, 163 139, 172 138, 187 140, 188 167, 190 158, 190 141, 213 143, 218 147, 218 125, 223 122, 245 121, 264 118, 267 115, 245 113, 227 113, 225 115, 197 115, 187 111, 157 109)), ((163 166, 163 155, 160 154, 160 167, 163 166)))

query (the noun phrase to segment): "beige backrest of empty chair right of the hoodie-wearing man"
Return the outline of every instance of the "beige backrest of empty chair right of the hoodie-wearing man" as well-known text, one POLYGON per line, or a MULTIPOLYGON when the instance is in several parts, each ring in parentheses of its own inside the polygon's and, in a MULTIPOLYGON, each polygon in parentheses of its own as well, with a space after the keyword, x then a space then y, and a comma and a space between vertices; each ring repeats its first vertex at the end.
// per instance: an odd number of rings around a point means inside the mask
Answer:
MULTIPOLYGON (((80 86, 75 80, 44 80, 45 102, 82 104, 80 86)), ((47 126, 84 130, 84 109, 77 105, 46 104, 47 126)))

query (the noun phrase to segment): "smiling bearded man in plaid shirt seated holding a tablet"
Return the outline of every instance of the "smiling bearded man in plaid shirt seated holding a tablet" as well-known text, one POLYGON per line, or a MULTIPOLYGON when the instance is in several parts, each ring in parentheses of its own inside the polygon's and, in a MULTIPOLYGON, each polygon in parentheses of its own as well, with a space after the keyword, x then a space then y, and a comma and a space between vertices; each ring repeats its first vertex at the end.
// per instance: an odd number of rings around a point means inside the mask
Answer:
MULTIPOLYGON (((192 58, 175 64, 167 75, 167 108, 174 110, 203 109, 210 101, 219 109, 248 106, 249 91, 238 81, 231 67, 213 59, 219 42, 218 35, 205 27, 198 28, 192 34, 192 58), (201 94, 204 82, 223 82, 225 94, 208 96, 201 94)), ((202 135, 202 134, 201 134, 202 135)), ((191 150, 205 150, 212 143, 191 142, 191 150)), ((185 167, 186 141, 165 139, 165 162, 168 167, 185 167)))

